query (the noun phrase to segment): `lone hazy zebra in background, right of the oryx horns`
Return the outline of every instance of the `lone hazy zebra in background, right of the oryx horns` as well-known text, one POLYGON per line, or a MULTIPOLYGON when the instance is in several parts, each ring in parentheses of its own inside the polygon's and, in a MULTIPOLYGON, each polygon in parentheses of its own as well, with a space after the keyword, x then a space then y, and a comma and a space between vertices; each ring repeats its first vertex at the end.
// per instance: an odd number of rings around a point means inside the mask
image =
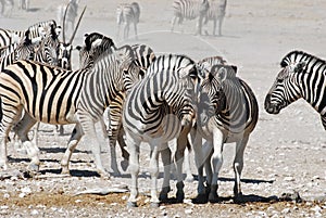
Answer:
POLYGON ((134 25, 135 37, 138 39, 137 24, 139 23, 140 7, 137 2, 122 3, 116 8, 117 38, 120 37, 121 25, 124 25, 124 39, 129 36, 130 24, 134 25))

